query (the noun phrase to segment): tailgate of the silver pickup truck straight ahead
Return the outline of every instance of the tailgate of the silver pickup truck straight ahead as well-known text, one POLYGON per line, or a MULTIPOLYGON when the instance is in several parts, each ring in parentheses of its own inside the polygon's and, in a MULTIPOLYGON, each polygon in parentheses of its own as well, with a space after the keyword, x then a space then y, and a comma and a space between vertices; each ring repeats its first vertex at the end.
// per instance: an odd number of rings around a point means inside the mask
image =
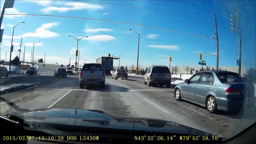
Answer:
POLYGON ((82 71, 82 79, 103 79, 103 69, 86 69, 82 71))

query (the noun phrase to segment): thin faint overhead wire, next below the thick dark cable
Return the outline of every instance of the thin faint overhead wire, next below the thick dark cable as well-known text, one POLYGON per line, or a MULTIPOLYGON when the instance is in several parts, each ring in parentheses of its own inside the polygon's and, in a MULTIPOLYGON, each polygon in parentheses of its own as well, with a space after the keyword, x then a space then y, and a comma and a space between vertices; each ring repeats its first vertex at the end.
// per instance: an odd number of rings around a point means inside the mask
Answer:
MULTIPOLYGON (((12 30, 12 29, 5 29, 5 30, 12 30)), ((15 29, 15 31, 50 31, 50 30, 15 29)), ((79 33, 79 34, 94 34, 94 33, 74 32, 74 31, 51 31, 51 32, 69 32, 69 33, 79 33)), ((103 35, 103 34, 95 34, 95 35, 103 35)), ((121 36, 121 35, 110 35, 110 36, 125 37, 125 36, 121 36)), ((137 37, 125 37, 125 38, 136 38, 136 39, 138 39, 137 37)), ((150 40, 150 39, 145 39, 145 38, 140 38, 140 39, 141 40, 150 40)), ((150 41, 159 41, 159 40, 150 40, 150 41)), ((172 43, 170 41, 159 41, 159 42, 172 43)), ((173 44, 181 44, 181 43, 173 43, 173 44)), ((181 45, 191 46, 191 45, 188 45, 188 44, 181 44, 181 45)))

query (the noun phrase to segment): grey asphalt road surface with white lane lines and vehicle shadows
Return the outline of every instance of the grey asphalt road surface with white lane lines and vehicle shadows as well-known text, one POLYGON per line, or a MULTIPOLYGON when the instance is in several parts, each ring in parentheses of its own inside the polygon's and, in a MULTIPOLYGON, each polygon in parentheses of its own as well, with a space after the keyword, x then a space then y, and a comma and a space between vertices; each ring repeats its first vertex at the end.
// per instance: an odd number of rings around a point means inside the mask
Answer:
POLYGON ((38 75, 31 75, 27 79, 29 81, 34 77, 35 80, 29 82, 43 83, 2 95, 0 112, 19 113, 42 108, 97 109, 115 116, 169 120, 221 137, 233 136, 255 121, 250 118, 235 118, 234 115, 222 111, 211 114, 196 104, 176 101, 173 90, 175 85, 170 88, 148 87, 143 78, 129 77, 128 80, 120 80, 106 76, 105 88, 81 89, 78 74, 57 78, 53 76, 56 68, 53 65, 41 67, 38 75))

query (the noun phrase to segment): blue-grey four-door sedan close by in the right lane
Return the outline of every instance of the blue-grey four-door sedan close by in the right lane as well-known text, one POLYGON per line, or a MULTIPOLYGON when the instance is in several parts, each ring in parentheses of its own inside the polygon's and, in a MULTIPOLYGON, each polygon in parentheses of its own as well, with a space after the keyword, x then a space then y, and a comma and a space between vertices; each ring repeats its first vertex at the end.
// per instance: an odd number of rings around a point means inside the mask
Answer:
POLYGON ((231 112, 241 109, 244 101, 243 79, 228 71, 200 71, 177 84, 174 97, 206 107, 208 112, 231 112))

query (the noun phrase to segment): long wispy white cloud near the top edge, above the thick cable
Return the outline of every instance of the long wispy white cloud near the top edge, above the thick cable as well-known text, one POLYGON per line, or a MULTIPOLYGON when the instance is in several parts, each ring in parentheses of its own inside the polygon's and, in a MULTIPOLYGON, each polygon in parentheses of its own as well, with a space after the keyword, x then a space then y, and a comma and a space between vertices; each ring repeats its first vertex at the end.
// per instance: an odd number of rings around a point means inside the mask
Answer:
POLYGON ((103 9, 103 6, 93 5, 93 4, 87 4, 87 3, 79 3, 79 2, 68 2, 64 4, 65 6, 69 7, 55 7, 55 6, 49 6, 44 9, 41 9, 41 12, 44 13, 50 13, 53 11, 57 12, 67 12, 69 10, 97 10, 97 9, 103 9))

